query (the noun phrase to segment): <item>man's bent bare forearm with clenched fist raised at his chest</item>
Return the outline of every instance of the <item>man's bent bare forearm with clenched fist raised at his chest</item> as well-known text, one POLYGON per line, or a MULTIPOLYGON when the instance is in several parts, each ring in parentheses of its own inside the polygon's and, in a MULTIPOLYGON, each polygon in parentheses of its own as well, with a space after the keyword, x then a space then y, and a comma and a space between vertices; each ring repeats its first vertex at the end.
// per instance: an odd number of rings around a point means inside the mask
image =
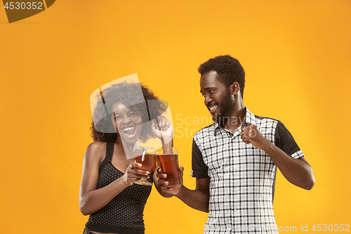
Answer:
POLYGON ((251 143, 256 148, 264 150, 290 183, 307 190, 312 189, 314 186, 312 167, 303 157, 295 159, 287 155, 286 152, 262 136, 256 126, 244 127, 240 136, 244 143, 251 143))

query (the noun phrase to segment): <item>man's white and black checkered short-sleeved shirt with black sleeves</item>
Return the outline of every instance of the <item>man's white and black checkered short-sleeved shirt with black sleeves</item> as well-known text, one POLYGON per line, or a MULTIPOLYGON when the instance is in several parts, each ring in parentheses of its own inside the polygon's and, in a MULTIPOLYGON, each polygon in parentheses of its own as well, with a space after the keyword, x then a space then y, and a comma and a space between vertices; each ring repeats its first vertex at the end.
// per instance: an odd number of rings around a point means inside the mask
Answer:
POLYGON ((234 134, 217 123, 194 135, 192 177, 210 178, 205 234, 278 233, 273 197, 277 166, 265 151, 241 140, 244 126, 255 125, 265 138, 291 157, 303 152, 282 122, 253 115, 234 134))

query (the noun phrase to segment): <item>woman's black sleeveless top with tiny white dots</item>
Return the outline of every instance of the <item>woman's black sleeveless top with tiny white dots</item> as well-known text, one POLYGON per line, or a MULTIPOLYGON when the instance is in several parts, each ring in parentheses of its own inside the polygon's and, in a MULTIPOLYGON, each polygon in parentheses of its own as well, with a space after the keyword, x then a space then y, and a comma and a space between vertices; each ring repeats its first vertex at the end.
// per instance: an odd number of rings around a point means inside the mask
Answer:
MULTIPOLYGON (((106 157, 100 164, 98 187, 103 188, 124 175, 111 163, 114 143, 106 143, 106 157)), ((147 179, 152 183, 152 174, 147 179)), ((152 186, 133 183, 114 197, 105 207, 89 216, 86 228, 100 233, 144 234, 143 212, 152 186)))

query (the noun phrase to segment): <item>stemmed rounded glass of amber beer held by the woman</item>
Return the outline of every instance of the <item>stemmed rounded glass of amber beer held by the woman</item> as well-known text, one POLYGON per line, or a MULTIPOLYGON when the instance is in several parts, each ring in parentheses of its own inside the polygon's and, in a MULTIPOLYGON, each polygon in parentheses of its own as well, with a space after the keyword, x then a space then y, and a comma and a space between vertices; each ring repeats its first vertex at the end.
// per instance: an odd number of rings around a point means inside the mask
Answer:
MULTIPOLYGON (((135 162, 140 163, 143 166, 135 167, 135 169, 150 171, 150 173, 152 173, 152 171, 154 171, 154 169, 156 168, 156 164, 157 164, 156 149, 140 146, 140 148, 138 149, 137 155, 138 156, 135 157, 135 162)), ((143 186, 152 186, 152 183, 147 181, 146 178, 140 178, 138 181, 135 181, 134 183, 140 184, 143 186)))

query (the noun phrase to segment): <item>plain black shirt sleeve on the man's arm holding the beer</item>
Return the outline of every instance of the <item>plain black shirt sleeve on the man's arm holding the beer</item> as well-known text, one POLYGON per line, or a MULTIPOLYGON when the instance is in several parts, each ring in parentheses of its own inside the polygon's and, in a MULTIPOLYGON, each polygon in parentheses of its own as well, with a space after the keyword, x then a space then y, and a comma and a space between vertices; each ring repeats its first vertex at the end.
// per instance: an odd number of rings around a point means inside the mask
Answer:
POLYGON ((208 177, 208 167, 206 166, 201 150, 194 139, 192 140, 192 177, 208 177))

